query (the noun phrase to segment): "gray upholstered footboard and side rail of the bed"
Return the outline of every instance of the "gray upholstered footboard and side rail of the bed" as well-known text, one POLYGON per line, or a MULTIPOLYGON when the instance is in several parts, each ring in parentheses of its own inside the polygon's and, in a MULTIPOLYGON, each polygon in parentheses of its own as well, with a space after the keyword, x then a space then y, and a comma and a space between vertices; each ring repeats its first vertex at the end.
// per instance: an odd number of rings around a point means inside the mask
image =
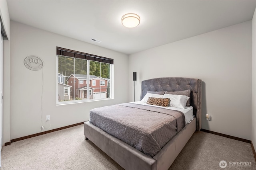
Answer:
POLYGON ((89 121, 84 122, 84 137, 90 139, 126 170, 168 170, 196 131, 196 119, 188 123, 153 158, 109 135, 89 121))

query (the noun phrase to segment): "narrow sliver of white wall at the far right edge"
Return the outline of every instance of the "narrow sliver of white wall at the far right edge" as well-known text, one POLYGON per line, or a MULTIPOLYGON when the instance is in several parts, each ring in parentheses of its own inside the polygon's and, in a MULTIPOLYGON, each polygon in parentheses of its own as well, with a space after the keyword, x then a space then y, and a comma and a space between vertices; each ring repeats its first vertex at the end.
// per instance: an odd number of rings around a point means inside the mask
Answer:
POLYGON ((256 12, 252 18, 252 144, 256 149, 256 12))

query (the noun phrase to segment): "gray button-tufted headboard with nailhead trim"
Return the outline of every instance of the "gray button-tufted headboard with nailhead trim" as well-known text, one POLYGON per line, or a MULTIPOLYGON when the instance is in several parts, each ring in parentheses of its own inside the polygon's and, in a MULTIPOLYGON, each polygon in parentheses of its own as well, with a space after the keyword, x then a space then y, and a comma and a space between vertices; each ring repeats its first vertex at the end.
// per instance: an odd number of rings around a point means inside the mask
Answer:
POLYGON ((198 78, 184 78, 184 77, 163 77, 152 78, 144 80, 141 83, 140 100, 151 92, 173 92, 182 90, 191 90, 190 106, 194 108, 193 115, 196 116, 196 130, 201 129, 201 115, 202 115, 202 80, 198 78))

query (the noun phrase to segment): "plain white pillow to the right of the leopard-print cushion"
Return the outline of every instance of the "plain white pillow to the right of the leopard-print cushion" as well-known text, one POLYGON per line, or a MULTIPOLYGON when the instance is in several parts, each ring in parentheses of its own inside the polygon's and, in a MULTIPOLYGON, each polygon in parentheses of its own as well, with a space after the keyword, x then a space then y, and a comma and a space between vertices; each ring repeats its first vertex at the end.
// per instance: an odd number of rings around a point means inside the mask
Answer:
POLYGON ((185 109, 186 103, 189 99, 188 96, 178 94, 164 94, 163 98, 170 98, 170 106, 185 109))

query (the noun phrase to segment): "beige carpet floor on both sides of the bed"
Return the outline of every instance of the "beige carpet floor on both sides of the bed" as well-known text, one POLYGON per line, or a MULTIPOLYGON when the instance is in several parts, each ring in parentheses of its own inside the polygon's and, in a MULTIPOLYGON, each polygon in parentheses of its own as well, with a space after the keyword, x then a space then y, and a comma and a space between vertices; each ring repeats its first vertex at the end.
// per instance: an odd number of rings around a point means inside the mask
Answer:
MULTIPOLYGON (((84 140, 83 125, 14 142, 4 146, 1 154, 1 170, 122 170, 92 142, 84 140)), ((256 170, 250 144, 199 131, 169 170, 218 169, 256 170), (251 166, 220 168, 221 160, 227 164, 251 162, 251 166)))

